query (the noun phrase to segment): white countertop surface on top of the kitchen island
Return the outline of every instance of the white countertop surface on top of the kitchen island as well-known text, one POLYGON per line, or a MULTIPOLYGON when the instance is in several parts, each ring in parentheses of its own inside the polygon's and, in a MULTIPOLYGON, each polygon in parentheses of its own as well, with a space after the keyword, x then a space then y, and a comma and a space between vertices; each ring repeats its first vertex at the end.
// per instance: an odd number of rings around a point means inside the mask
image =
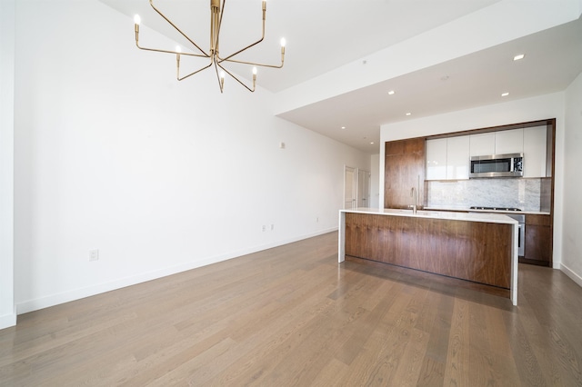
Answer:
POLYGON ((391 216, 409 216, 416 218, 435 218, 435 219, 450 219, 456 221, 467 222, 483 222, 483 223, 507 223, 517 224, 517 221, 503 213, 449 213, 446 211, 426 211, 418 210, 412 213, 412 210, 398 210, 392 208, 355 208, 351 210, 340 210, 343 213, 370 213, 376 215, 391 215, 391 216))

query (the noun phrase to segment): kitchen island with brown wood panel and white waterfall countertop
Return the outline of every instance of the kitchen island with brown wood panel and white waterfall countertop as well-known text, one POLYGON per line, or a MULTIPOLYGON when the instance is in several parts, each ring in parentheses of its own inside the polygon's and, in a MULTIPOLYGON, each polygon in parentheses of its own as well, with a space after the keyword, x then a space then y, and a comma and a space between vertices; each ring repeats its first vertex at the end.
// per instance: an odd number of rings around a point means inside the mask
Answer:
POLYGON ((346 256, 507 289, 517 305, 517 221, 506 215, 341 210, 338 262, 346 256))

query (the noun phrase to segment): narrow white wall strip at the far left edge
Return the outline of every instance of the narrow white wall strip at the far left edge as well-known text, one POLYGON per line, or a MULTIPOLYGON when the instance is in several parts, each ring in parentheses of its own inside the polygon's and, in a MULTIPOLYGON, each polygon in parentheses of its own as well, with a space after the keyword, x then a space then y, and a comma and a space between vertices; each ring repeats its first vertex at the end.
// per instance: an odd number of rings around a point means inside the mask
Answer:
POLYGON ((16 323, 14 297, 15 2, 0 1, 0 329, 16 323))

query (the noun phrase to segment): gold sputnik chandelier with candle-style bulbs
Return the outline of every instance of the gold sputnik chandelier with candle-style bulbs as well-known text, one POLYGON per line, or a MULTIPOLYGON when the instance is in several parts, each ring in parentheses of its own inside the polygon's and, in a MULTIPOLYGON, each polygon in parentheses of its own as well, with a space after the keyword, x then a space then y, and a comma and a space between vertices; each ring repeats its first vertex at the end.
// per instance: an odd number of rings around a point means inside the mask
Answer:
POLYGON ((235 59, 236 55, 241 54, 242 52, 253 47, 254 45, 258 45, 265 38, 266 0, 263 0, 263 33, 261 35, 261 38, 259 40, 257 40, 255 43, 253 43, 251 45, 247 45, 245 48, 242 48, 242 49, 236 51, 234 54, 226 55, 224 57, 220 56, 218 54, 218 49, 220 46, 220 27, 222 25, 222 16, 224 15, 224 12, 225 12, 225 3, 226 3, 226 0, 210 0, 210 48, 207 52, 205 50, 203 50, 199 45, 196 45, 196 43, 192 39, 190 39, 185 33, 183 33, 174 23, 172 23, 172 21, 170 21, 170 19, 168 19, 166 17, 166 15, 162 14, 154 5, 154 0, 149 0, 149 4, 152 6, 152 8, 154 8, 156 13, 159 14, 160 16, 162 16, 166 20, 167 23, 172 25, 176 29, 176 31, 178 33, 180 33, 180 35, 184 36, 186 38, 186 40, 188 42, 190 42, 190 44, 194 45, 194 47, 196 47, 196 49, 200 53, 199 54, 183 53, 179 46, 176 47, 176 51, 159 50, 159 49, 155 49, 155 48, 146 48, 146 47, 140 46, 139 45, 139 24, 141 22, 141 19, 140 19, 139 15, 135 15, 135 45, 137 46, 137 48, 139 48, 141 50, 156 51, 158 53, 167 53, 167 54, 176 55, 176 74, 177 74, 176 76, 177 76, 178 81, 182 81, 183 79, 186 79, 187 77, 189 77, 191 75, 198 74, 201 71, 206 70, 209 67, 214 67, 215 72, 216 72, 216 79, 218 80, 218 84, 220 86, 220 93, 222 93, 224 90, 226 74, 228 74, 232 78, 234 78, 236 80, 236 82, 238 82, 239 84, 242 84, 243 86, 245 86, 248 91, 254 92, 255 85, 256 85, 256 66, 272 67, 272 68, 283 67, 283 63, 285 60, 285 38, 281 39, 281 65, 264 65, 264 64, 254 63, 254 62, 239 61, 239 60, 235 59), (209 63, 207 65, 203 66, 202 68, 199 68, 198 70, 194 71, 193 73, 186 74, 184 76, 180 76, 180 56, 181 55, 206 58, 206 59, 209 59, 209 63), (253 65, 253 87, 251 88, 251 87, 247 86, 240 79, 238 79, 235 74, 232 74, 230 71, 228 71, 224 66, 226 63, 253 65))

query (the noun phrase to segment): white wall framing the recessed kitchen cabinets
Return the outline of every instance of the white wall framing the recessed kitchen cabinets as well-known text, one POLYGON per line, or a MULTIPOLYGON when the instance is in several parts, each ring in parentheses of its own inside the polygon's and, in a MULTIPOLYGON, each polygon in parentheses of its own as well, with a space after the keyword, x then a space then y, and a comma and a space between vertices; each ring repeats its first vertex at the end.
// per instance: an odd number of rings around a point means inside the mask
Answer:
MULTIPOLYGON (((554 191, 554 268, 559 268, 562 257, 562 223, 564 220, 564 93, 491 104, 474 109, 433 115, 380 127, 380 171, 384 171, 386 141, 421 137, 433 134, 455 133, 471 129, 503 124, 517 124, 556 118, 556 175, 554 191)), ((380 187, 384 187, 384 175, 380 174, 380 187)), ((384 203, 384 190, 380 190, 380 203, 384 203)), ((569 212, 569 210, 568 210, 569 212)), ((570 212, 571 213, 571 212, 570 212)))

